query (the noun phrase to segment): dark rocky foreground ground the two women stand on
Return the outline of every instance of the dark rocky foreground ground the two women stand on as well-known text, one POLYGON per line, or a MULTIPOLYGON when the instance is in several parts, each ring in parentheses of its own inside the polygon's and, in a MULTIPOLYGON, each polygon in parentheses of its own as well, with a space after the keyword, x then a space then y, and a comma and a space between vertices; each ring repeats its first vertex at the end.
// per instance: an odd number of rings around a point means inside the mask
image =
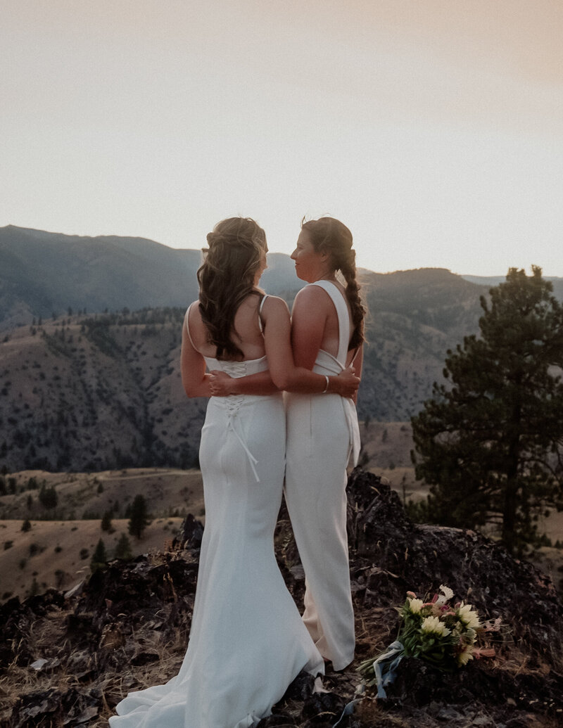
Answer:
MULTIPOLYGON (((386 700, 370 695, 339 728, 556 726, 563 716, 563 605, 540 571, 473 531, 418 526, 379 478, 355 470, 348 483, 350 574, 358 662, 389 644, 407 590, 441 584, 500 617, 497 657, 456 673, 403 659, 386 700)), ((132 689, 176 674, 186 649, 202 526, 186 519, 170 553, 115 561, 66 594, 50 590, 0 608, 0 726, 106 726, 132 689)), ((304 575, 284 512, 280 567, 296 600, 304 575)), ((354 663, 329 672, 325 692, 299 676, 260 728, 331 727, 359 682, 354 663)))

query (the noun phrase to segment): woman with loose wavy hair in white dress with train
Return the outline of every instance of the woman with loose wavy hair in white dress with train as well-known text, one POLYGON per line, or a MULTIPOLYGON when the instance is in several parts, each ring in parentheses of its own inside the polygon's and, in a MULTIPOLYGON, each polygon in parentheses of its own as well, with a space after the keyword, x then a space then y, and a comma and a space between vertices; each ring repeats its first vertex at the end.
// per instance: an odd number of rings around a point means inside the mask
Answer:
POLYGON ((178 675, 127 695, 111 728, 250 728, 301 670, 323 673, 275 561, 286 425, 268 362, 275 359, 277 380, 297 391, 350 396, 358 380, 351 370, 326 377, 294 367, 285 301, 256 288, 267 245, 254 221, 218 223, 208 245, 199 305, 189 306, 182 331, 186 394, 211 397, 200 446, 205 531, 189 645, 178 675), (218 392, 230 396, 211 396, 218 392))

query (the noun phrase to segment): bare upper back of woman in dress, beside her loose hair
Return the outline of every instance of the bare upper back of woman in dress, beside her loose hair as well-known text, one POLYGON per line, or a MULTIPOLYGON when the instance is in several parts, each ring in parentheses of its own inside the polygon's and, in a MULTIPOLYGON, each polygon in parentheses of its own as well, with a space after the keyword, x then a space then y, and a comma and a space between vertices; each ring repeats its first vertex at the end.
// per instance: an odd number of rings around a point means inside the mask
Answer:
MULTIPOLYGON (((266 354, 264 337, 260 331, 259 306, 262 296, 249 295, 235 314, 232 339, 243 352, 242 360, 260 359, 266 354)), ((202 321, 197 301, 189 307, 187 322, 194 348, 204 357, 215 358, 216 347, 208 342, 208 330, 202 321)))

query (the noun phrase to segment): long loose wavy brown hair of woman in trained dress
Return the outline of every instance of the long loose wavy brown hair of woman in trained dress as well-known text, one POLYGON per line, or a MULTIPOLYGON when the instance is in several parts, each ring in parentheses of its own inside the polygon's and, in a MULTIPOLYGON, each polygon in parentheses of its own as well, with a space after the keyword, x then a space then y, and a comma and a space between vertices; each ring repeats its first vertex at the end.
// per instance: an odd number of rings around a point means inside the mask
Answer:
POLYGON ((254 288, 266 233, 251 218, 228 218, 217 223, 207 236, 204 260, 197 271, 200 312, 208 330, 208 341, 217 347, 217 359, 239 359, 243 352, 233 341, 235 314, 254 288))

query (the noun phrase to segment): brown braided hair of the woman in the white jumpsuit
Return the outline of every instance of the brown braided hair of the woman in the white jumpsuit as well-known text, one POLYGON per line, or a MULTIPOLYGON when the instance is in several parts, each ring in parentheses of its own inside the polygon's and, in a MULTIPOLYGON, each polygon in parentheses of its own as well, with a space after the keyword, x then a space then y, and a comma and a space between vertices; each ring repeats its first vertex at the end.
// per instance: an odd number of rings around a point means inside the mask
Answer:
POLYGON ((340 271, 346 280, 346 297, 352 312, 353 333, 348 350, 356 349, 366 337, 363 334, 363 320, 366 307, 360 296, 360 285, 356 280, 355 250, 352 248, 352 233, 335 218, 319 218, 301 223, 307 230, 312 247, 317 253, 328 253, 331 268, 340 271))

